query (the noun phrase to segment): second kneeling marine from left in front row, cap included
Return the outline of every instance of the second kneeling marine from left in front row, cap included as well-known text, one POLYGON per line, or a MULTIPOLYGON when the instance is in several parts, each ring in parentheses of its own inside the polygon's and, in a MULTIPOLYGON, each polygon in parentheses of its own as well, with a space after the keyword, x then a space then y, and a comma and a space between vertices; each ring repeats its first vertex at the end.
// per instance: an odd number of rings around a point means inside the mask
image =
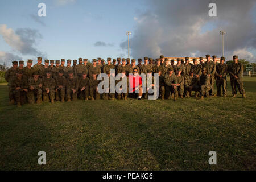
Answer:
POLYGON ((39 78, 39 73, 34 72, 33 77, 28 78, 28 92, 27 92, 27 100, 28 103, 34 104, 35 103, 35 96, 36 96, 36 103, 40 104, 42 102, 42 78, 39 78))

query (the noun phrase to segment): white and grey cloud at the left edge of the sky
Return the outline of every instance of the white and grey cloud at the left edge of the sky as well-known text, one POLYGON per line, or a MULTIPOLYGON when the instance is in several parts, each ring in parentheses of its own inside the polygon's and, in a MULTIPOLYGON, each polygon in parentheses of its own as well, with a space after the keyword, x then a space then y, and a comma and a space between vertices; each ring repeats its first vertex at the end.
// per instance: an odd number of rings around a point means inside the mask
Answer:
POLYGON ((18 28, 14 32, 13 29, 7 28, 6 24, 0 24, 0 34, 9 46, 22 53, 22 55, 46 56, 35 48, 36 40, 42 39, 38 30, 18 28))

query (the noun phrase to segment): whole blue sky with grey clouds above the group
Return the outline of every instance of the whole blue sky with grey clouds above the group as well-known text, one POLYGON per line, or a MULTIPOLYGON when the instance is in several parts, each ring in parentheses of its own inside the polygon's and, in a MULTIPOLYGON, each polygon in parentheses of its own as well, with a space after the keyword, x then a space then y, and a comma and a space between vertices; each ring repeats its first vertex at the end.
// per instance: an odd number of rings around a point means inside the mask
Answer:
MULTIPOLYGON (((3 0, 0 1, 0 64, 36 57, 89 60, 128 57, 225 56, 256 60, 256 1, 3 0), (210 17, 209 3, 217 6, 210 17), (39 3, 46 17, 38 16, 39 3)), ((35 62, 34 62, 35 63, 35 62)))

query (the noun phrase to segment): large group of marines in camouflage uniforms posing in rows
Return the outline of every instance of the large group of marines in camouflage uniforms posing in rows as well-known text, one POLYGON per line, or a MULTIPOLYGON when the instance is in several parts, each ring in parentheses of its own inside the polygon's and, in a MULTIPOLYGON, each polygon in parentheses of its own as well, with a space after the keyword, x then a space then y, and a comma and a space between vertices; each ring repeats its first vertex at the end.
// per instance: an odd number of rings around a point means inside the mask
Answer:
MULTIPOLYGON (((226 76, 230 75, 230 83, 232 86, 233 97, 236 97, 238 87, 242 97, 245 98, 245 89, 243 88, 242 73, 243 65, 238 62, 238 56, 233 56, 231 65, 225 64, 225 57, 221 57, 220 63, 217 63, 216 56, 205 56, 207 61, 203 62, 203 57, 200 57, 199 62, 193 59, 193 64, 189 63, 189 57, 185 60, 177 58, 177 64, 174 59, 169 60, 161 55, 158 59, 153 60, 144 57, 138 59, 136 65, 135 59, 93 59, 89 63, 88 59, 79 58, 77 60, 67 60, 67 66, 64 66, 65 60, 44 60, 38 57, 38 63, 32 67, 33 60, 27 60, 27 66, 24 67, 24 61, 13 61, 11 67, 5 73, 5 80, 9 86, 9 98, 11 104, 22 104, 28 102, 30 104, 40 104, 42 101, 74 101, 77 98, 83 100, 127 100, 128 93, 98 93, 99 80, 97 76, 100 73, 106 73, 109 77, 115 77, 118 73, 123 76, 131 74, 144 73, 147 77, 152 77, 152 88, 154 89, 154 75, 158 74, 159 98, 172 98, 174 101, 178 97, 191 97, 191 92, 195 91, 195 97, 203 100, 204 96, 221 96, 227 95, 226 76), (171 61, 171 64, 170 64, 171 61), (110 72, 114 69, 114 74, 110 72), (214 84, 217 85, 217 94, 214 90, 214 84)), ((121 80, 123 78, 121 77, 121 80)), ((119 80, 119 81, 121 81, 119 80)), ((117 84, 119 81, 115 81, 117 84)), ((128 82, 128 81, 127 81, 128 82)), ((141 87, 141 85, 139 85, 141 87)), ((135 95, 141 100, 142 91, 139 89, 139 94, 135 95)), ((148 89, 144 92, 144 98, 148 97, 148 89)))

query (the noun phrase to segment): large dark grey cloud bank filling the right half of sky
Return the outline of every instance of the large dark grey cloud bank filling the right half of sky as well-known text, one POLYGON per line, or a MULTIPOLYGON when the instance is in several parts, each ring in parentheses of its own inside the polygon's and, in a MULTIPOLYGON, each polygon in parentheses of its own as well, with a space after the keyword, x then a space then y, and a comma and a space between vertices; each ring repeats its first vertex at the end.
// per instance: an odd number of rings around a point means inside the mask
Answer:
MULTIPOLYGON (((256 52, 255 1, 214 1, 217 17, 210 17, 212 1, 147 1, 146 10, 134 17, 130 38, 131 56, 221 56, 220 30, 226 31, 225 53, 256 52), (202 31, 204 30, 204 31, 202 31)), ((127 40, 120 47, 127 50, 127 40)), ((247 56, 250 53, 247 53, 247 56)), ((238 55, 239 56, 239 55, 238 55)), ((242 59, 242 57, 240 58, 242 59)), ((255 59, 255 56, 254 56, 255 59)))

